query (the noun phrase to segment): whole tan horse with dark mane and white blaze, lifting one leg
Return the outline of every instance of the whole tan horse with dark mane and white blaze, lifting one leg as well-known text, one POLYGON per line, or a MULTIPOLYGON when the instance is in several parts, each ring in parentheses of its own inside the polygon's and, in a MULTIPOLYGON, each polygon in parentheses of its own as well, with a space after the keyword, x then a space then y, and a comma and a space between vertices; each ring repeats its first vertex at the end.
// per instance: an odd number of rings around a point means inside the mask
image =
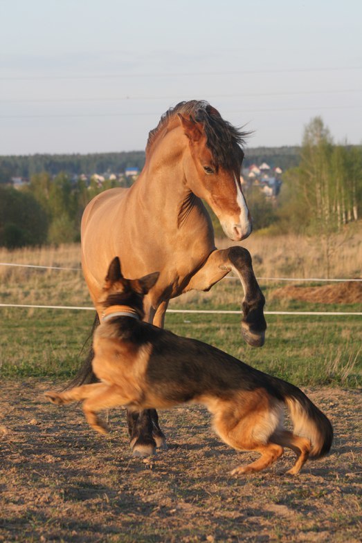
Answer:
MULTIPOLYGON (((148 322, 163 326, 171 298, 192 289, 208 291, 230 270, 244 288, 242 334, 264 343, 264 296, 248 250, 215 248, 212 223, 201 199, 217 215, 226 235, 240 241, 251 233, 251 217, 239 181, 246 134, 223 120, 208 102, 181 102, 161 117, 147 141, 145 166, 129 189, 102 192, 82 217, 82 268, 96 306, 109 262, 120 257, 129 279, 159 271, 145 297, 148 322)), ((73 383, 91 380, 91 358, 73 383)), ((136 456, 165 447, 154 409, 127 414, 136 456)))

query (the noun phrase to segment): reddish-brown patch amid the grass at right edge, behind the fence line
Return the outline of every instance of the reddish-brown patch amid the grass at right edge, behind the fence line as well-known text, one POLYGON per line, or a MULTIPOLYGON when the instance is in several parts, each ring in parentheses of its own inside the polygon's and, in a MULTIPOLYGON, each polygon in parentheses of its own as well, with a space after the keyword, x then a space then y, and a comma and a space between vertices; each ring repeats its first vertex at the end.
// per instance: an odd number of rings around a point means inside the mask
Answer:
POLYGON ((316 304, 359 304, 362 303, 362 283, 348 281, 325 286, 288 285, 277 288, 271 297, 316 304))

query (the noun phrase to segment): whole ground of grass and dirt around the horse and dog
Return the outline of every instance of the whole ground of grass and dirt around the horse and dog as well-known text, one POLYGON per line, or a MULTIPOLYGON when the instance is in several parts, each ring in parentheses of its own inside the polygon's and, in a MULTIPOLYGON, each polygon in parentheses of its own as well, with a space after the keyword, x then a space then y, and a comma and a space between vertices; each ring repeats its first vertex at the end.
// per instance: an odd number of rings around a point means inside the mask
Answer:
MULTIPOLYGON (((301 241, 298 267, 293 251, 280 252, 286 239, 264 240, 263 251, 262 238, 252 238, 249 250, 262 255, 254 260, 255 275, 300 277, 302 270, 304 276, 323 277, 313 251, 303 252, 301 241)), ((295 240, 291 246, 296 251, 295 240)), ((359 273, 361 240, 355 237, 349 249, 350 255, 336 257, 335 277, 359 273)), ((78 268, 79 247, 1 251, 0 261, 78 268)), ((0 268, 1 303, 91 305, 80 271, 0 268)), ((260 284, 267 311, 361 311, 358 303, 274 298, 280 284, 260 284)), ((189 293, 171 308, 235 310, 241 298, 239 283, 224 279, 210 293, 189 293)), ((292 479, 282 475, 291 465, 289 452, 260 475, 231 477, 230 470, 253 455, 221 443, 207 412, 197 406, 162 412, 169 450, 147 461, 133 459, 119 410, 109 413, 111 434, 105 438, 89 430, 79 406, 55 407, 42 396, 75 374, 93 311, 0 311, 0 541, 359 541, 360 316, 268 315, 261 349, 242 341, 239 315, 166 317, 172 331, 291 380, 331 418, 331 454, 307 463, 292 479)))

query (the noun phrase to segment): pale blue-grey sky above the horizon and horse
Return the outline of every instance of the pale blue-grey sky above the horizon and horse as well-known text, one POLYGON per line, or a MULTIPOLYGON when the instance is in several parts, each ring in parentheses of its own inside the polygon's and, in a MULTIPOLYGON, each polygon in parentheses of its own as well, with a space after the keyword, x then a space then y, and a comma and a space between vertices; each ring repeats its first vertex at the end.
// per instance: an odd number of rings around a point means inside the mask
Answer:
POLYGON ((362 143, 361 0, 0 0, 0 155, 143 150, 181 100, 362 143))

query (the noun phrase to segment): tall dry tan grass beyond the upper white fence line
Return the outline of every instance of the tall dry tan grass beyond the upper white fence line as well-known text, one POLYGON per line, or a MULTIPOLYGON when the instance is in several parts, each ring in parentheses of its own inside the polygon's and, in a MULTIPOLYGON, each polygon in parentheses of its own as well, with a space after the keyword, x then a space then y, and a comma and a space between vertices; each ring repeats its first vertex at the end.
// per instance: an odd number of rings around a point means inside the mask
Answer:
MULTIPOLYGON (((225 238, 217 240, 218 248, 230 245, 235 243, 225 238)), ((325 262, 319 238, 295 234, 268 236, 254 232, 240 245, 251 252, 255 274, 260 277, 325 277, 325 262)), ((361 224, 358 223, 348 234, 336 238, 335 248, 331 257, 331 277, 361 277, 361 224)), ((12 251, 0 248, 0 262, 80 268, 80 246, 73 243, 57 248, 47 246, 12 251)), ((7 273, 6 268, 0 266, 0 279, 4 273, 7 273)))

